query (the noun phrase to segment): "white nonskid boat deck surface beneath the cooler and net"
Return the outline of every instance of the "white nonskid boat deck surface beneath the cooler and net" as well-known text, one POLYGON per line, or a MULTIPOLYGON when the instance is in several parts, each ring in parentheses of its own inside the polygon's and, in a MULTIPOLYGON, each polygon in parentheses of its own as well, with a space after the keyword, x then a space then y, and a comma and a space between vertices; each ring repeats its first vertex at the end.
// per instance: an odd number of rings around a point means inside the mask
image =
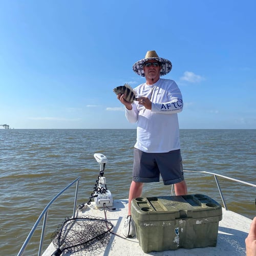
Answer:
MULTIPOLYGON (((64 253, 62 255, 245 255, 245 238, 247 237, 251 220, 235 212, 222 209, 223 216, 219 222, 219 231, 216 247, 204 247, 166 251, 143 252, 136 237, 124 238, 122 227, 127 215, 127 200, 114 200, 113 208, 106 209, 106 219, 113 224, 110 242, 104 248, 94 251, 79 251, 76 253, 64 253)), ((111 207, 110 207, 111 208, 111 207)), ((83 211, 79 211, 79 217, 95 216, 105 218, 103 208, 96 208, 94 202, 83 211)), ((51 255, 55 251, 51 243, 44 256, 51 255)))

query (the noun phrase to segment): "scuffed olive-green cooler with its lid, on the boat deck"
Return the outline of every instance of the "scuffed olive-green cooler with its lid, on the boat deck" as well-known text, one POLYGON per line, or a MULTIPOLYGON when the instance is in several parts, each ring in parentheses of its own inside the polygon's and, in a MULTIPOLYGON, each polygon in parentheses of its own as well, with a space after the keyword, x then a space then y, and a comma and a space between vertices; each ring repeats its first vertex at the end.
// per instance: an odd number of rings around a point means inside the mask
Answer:
POLYGON ((222 207, 208 196, 135 198, 131 210, 144 252, 217 245, 222 207))

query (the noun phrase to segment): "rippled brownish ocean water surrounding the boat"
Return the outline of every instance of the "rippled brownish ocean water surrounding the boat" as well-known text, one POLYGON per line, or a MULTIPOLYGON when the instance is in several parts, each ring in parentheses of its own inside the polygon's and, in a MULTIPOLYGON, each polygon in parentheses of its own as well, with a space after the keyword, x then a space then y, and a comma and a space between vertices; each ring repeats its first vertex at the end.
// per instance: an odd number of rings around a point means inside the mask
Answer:
MULTIPOLYGON (((184 169, 215 172, 256 184, 256 130, 181 130, 184 169)), ((87 202, 99 174, 94 153, 108 158, 104 176, 113 199, 128 197, 136 130, 0 130, 1 255, 16 255, 48 202, 78 176, 78 204, 87 202)), ((211 176, 185 173, 189 194, 221 202, 211 176)), ((252 219, 255 188, 219 179, 227 207, 252 219)), ((75 189, 75 188, 74 188, 75 189)), ((51 233, 72 215, 65 193, 49 210, 45 247, 51 233), (57 214, 57 217, 56 217, 57 214)), ((142 196, 170 194, 162 182, 145 184, 142 196)), ((37 255, 40 229, 24 255, 37 255)))

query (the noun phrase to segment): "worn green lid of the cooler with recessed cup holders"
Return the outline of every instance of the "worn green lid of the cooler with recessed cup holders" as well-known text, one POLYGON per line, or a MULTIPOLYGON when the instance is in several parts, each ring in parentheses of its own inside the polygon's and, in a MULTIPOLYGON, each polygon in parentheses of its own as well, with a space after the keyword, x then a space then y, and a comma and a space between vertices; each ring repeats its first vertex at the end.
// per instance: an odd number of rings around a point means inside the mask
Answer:
POLYGON ((132 200, 133 219, 175 220, 222 216, 222 207, 206 195, 163 196, 132 200))

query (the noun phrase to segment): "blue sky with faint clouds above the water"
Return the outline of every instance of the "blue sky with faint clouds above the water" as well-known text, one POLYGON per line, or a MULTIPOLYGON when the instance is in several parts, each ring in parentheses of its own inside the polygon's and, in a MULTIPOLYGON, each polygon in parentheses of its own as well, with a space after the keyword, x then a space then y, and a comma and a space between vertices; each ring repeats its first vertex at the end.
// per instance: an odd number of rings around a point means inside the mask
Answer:
MULTIPOLYGON (((173 69, 180 129, 256 129, 256 2, 0 0, 0 124, 135 129, 113 89, 145 78, 155 50, 173 69)), ((0 129, 4 129, 0 126, 0 129)))

